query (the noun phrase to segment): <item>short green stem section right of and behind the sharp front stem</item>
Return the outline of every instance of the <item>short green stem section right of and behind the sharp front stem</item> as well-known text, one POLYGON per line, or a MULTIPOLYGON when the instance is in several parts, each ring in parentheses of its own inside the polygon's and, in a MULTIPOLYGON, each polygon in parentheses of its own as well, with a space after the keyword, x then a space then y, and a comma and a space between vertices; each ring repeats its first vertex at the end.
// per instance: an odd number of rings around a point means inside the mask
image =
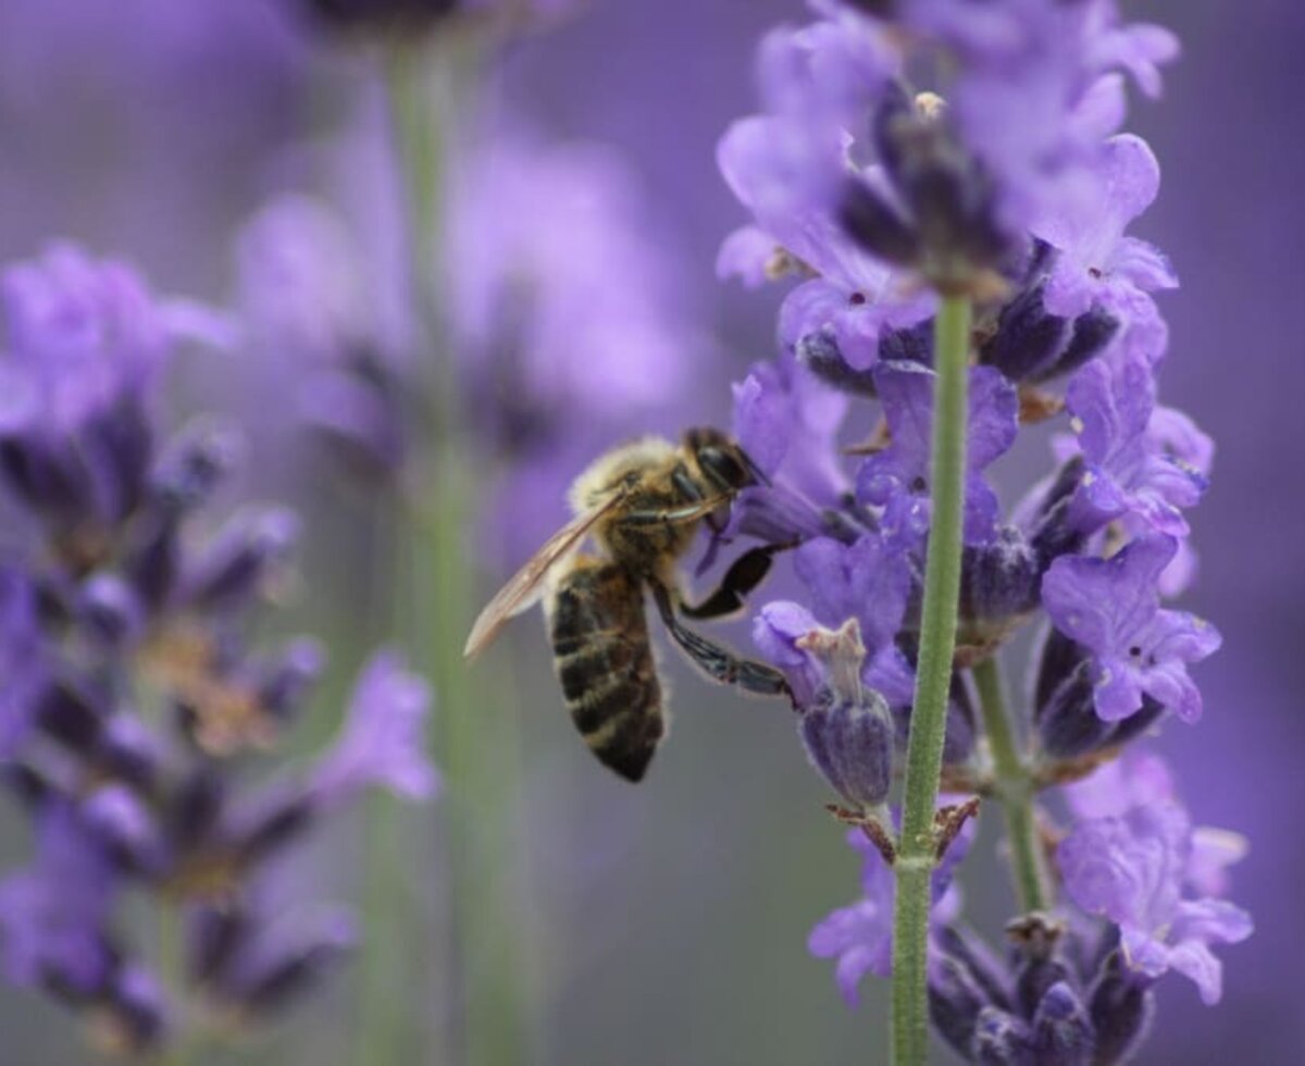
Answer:
POLYGON ((1049 882, 1037 817, 1034 813, 1034 785, 1019 758, 1014 727, 1006 710, 1001 665, 996 656, 979 663, 974 668, 974 678, 979 689, 979 712, 983 715, 984 733, 992 752, 997 795, 1006 814, 1011 876, 1019 907, 1024 912, 1045 911, 1049 882))

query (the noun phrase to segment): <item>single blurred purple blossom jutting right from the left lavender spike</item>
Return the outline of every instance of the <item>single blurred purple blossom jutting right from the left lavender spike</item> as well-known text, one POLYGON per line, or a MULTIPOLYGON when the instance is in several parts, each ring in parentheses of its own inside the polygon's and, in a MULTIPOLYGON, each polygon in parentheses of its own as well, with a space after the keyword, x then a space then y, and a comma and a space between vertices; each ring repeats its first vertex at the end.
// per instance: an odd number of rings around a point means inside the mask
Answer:
POLYGON ((313 774, 316 796, 337 804, 372 787, 410 800, 433 796, 440 782, 422 740, 429 706, 425 682, 407 673, 397 655, 373 655, 354 689, 348 720, 335 746, 313 774))

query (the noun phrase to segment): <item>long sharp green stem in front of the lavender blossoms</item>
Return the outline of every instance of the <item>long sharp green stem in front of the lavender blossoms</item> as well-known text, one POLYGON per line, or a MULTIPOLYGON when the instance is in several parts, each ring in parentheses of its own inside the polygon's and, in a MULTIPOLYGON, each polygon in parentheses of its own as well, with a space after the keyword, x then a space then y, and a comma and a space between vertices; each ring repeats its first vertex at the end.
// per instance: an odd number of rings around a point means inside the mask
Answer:
POLYGON ((970 300, 944 296, 933 326, 933 442, 929 549, 920 655, 907 745, 902 839, 894 864, 891 1061, 919 1066, 929 1050, 927 984, 929 879, 936 865, 933 812, 957 642, 964 522, 970 300))

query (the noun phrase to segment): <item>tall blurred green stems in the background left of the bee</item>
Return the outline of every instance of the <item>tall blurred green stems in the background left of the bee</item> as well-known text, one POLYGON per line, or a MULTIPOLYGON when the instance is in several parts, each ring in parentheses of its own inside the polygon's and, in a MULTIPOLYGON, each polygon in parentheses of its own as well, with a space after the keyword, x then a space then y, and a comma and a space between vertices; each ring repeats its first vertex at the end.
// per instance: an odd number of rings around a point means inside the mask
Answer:
POLYGON ((440 301, 448 270, 441 256, 446 163, 457 145, 455 106, 475 68, 467 43, 436 39, 424 48, 398 48, 386 69, 412 228, 411 297, 420 312, 414 371, 425 423, 402 508, 402 562, 392 591, 403 602, 405 642, 435 686, 431 757, 446 789, 437 813, 445 861, 432 870, 416 868, 422 852, 388 825, 397 815, 394 805, 373 812, 368 941, 377 926, 382 930, 368 949, 358 1057, 369 1063, 423 1056, 468 1066, 529 1059, 531 959, 523 956, 531 937, 519 906, 522 847, 513 821, 521 809, 523 759, 519 729, 509 720, 515 707, 506 694, 506 659, 487 677, 462 658, 476 607, 470 548, 478 471, 440 301), (406 882, 423 876, 441 878, 450 900, 438 933, 422 928, 422 916, 412 913, 415 894, 406 882), (405 980, 395 980, 397 967, 405 980), (411 986, 415 976, 420 989, 411 986), (433 1035, 424 1032, 431 1026, 433 1035))

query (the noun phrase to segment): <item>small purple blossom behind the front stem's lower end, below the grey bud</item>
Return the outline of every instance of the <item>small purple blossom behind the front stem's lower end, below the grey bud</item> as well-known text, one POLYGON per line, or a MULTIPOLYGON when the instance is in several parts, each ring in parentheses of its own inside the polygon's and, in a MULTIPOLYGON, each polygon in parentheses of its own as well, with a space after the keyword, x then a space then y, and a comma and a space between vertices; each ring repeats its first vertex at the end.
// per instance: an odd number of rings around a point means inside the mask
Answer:
MULTIPOLYGON (((968 822, 933 872, 930 925, 941 928, 960 911, 960 892, 953 886, 955 866, 974 839, 968 822)), ((887 977, 893 972, 893 900, 897 879, 883 856, 860 830, 847 834, 847 843, 861 855, 861 898, 820 921, 806 938, 806 950, 818 959, 837 958, 834 979, 850 1006, 857 1002, 857 985, 867 973, 887 977)))

